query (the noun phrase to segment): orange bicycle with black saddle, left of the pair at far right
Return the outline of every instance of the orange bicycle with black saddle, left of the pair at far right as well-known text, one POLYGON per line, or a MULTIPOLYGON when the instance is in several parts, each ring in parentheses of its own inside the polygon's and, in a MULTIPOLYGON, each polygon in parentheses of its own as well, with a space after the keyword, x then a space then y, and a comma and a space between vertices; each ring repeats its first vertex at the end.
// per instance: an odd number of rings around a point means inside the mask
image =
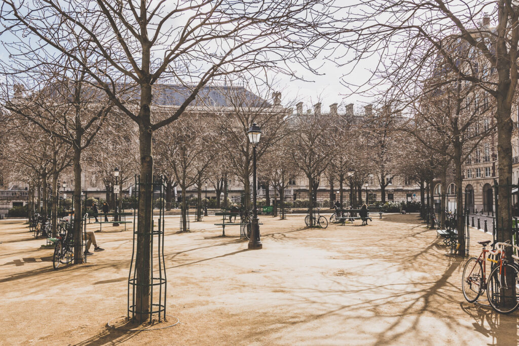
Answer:
POLYGON ((500 250, 487 250, 486 246, 490 243, 490 240, 477 242, 483 245, 481 254, 479 257, 472 257, 466 262, 463 268, 463 274, 461 276, 461 288, 463 290, 463 296, 469 303, 473 303, 479 298, 486 289, 486 261, 485 259, 494 262, 495 260, 490 259, 490 256, 496 256, 501 253, 500 250), (489 254, 487 258, 487 253, 489 254))

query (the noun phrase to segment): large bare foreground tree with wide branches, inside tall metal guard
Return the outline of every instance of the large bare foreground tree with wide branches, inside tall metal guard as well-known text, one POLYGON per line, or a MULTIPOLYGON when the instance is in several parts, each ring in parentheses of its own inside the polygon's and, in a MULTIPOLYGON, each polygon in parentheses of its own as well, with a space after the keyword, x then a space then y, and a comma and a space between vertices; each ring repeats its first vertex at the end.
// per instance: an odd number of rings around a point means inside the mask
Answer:
MULTIPOLYGON (((319 52, 325 41, 319 40, 319 33, 331 26, 327 16, 331 2, 261 0, 244 6, 241 0, 177 0, 173 4, 37 0, 29 5, 6 0, 0 16, 8 23, 7 30, 33 35, 41 49, 75 59, 121 112, 139 125, 140 173, 151 182, 153 132, 179 118, 203 86, 219 76, 254 73, 258 68, 292 73, 292 61, 309 67, 308 55, 303 52, 319 52), (71 41, 83 40, 92 44, 88 62, 71 51, 71 41), (121 102, 121 94, 128 90, 120 87, 124 79, 131 81, 139 106, 121 102), (157 119, 152 117, 152 86, 161 79, 190 88, 174 112, 157 119)), ((11 53, 16 49, 35 50, 9 46, 11 53)), ((136 311, 147 312, 151 307, 148 231, 152 229, 152 190, 141 187, 136 311)), ((138 319, 142 321, 145 315, 139 313, 138 319)))

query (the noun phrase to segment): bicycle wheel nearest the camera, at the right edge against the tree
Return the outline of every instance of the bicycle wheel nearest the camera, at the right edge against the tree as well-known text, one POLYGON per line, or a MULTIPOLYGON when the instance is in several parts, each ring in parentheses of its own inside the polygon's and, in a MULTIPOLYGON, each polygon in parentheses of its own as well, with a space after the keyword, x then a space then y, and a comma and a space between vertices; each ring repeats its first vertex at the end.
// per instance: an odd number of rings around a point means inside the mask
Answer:
POLYGON ((487 283, 490 306, 499 313, 509 314, 519 307, 519 272, 505 263, 490 272, 487 283))

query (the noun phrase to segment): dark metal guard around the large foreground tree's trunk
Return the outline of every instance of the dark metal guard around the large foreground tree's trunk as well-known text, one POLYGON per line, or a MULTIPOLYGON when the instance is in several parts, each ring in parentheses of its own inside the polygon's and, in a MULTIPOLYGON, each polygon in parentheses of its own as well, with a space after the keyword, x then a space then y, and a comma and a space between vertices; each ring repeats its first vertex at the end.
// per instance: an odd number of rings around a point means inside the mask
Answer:
MULTIPOLYGON (((164 261, 164 210, 165 210, 165 193, 166 193, 166 181, 164 177, 154 179, 152 182, 151 177, 147 176, 144 182, 141 182, 140 175, 135 176, 135 193, 137 195, 137 205, 140 203, 141 195, 138 193, 140 187, 143 186, 146 191, 159 191, 159 203, 158 203, 158 223, 155 225, 153 219, 154 211, 152 208, 152 229, 140 229, 139 222, 135 222, 137 217, 137 210, 133 210, 133 250, 131 255, 130 273, 128 275, 128 311, 127 319, 135 321, 135 315, 143 316, 149 315, 149 322, 153 321, 153 317, 157 316, 158 322, 162 319, 166 319, 166 266, 164 261), (136 236, 137 234, 148 234, 150 238, 150 273, 152 275, 151 281, 148 286, 149 293, 151 295, 151 302, 149 311, 137 311, 135 304, 136 287, 142 286, 142 283, 137 282, 137 266, 136 261, 141 254, 135 251, 136 248, 136 236), (154 260, 155 259, 155 260, 154 260), (157 292, 158 291, 158 292, 157 292), (130 294, 131 293, 131 294, 130 294)), ((144 197, 143 197, 144 198, 144 197)), ((144 270, 144 268, 143 268, 144 270)), ((144 275, 143 275, 144 276, 144 275)), ((143 295, 144 290, 139 290, 143 295)), ((140 297, 141 301, 143 300, 140 297)), ((142 321, 140 321, 142 322, 142 321)))

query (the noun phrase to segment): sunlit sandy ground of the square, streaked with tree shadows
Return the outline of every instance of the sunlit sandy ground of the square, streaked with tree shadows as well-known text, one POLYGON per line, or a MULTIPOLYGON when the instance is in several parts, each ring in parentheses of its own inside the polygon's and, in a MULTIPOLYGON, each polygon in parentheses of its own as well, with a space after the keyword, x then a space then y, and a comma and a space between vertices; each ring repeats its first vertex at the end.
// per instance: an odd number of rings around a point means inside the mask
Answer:
MULTIPOLYGON (((167 217, 167 309, 181 323, 140 333, 106 327, 126 315, 130 230, 104 227, 106 251, 55 271, 44 240, 2 220, 0 344, 517 344, 519 313, 467 303, 464 261, 445 256, 417 215, 325 230, 303 218, 262 216, 264 248, 247 251, 238 227, 216 237, 219 217, 180 234, 179 217, 167 217)), ((490 236, 471 236, 479 254, 490 236)))

